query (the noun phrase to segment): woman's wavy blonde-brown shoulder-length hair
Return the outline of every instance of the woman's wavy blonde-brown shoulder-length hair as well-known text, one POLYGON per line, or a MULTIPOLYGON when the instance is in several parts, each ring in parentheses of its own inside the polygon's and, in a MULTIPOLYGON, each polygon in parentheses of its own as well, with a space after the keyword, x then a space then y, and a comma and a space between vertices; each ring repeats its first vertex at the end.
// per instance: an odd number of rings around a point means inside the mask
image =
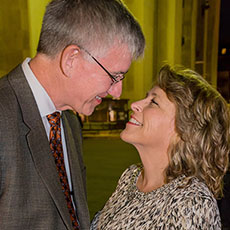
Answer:
POLYGON ((216 198, 229 165, 230 114, 225 99, 198 73, 169 65, 161 68, 157 83, 176 106, 177 137, 168 149, 166 182, 184 174, 204 182, 216 198))

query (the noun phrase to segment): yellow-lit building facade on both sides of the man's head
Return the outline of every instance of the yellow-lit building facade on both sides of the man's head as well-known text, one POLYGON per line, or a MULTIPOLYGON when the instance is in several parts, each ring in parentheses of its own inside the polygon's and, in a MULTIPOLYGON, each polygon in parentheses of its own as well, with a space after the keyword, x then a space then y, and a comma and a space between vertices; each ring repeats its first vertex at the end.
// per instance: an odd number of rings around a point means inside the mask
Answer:
MULTIPOLYGON (((1 0, 0 75, 33 57, 49 0, 1 0)), ((132 64, 123 84, 129 103, 145 96, 165 63, 197 70, 217 85, 221 0, 124 0, 145 37, 143 60, 132 64)))

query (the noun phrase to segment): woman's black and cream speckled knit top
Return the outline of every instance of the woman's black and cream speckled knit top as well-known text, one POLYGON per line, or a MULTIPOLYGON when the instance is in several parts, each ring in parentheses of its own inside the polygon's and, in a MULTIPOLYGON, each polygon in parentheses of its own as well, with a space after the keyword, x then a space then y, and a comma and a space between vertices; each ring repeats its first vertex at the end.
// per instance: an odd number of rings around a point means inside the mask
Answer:
POLYGON ((217 202, 197 178, 181 187, 185 176, 143 193, 136 187, 141 167, 132 165, 122 174, 117 188, 99 211, 91 230, 220 230, 217 202))

